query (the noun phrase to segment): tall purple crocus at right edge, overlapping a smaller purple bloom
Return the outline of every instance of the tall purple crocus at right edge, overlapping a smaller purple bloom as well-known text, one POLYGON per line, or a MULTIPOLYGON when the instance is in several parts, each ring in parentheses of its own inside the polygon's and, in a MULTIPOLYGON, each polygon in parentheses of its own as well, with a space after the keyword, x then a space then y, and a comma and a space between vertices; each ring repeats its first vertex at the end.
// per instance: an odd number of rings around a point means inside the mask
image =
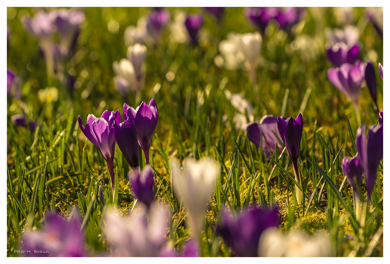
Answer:
POLYGON ((376 181, 377 168, 383 158, 383 125, 371 125, 367 144, 364 130, 365 125, 362 125, 356 132, 356 150, 364 170, 367 198, 370 199, 376 181))

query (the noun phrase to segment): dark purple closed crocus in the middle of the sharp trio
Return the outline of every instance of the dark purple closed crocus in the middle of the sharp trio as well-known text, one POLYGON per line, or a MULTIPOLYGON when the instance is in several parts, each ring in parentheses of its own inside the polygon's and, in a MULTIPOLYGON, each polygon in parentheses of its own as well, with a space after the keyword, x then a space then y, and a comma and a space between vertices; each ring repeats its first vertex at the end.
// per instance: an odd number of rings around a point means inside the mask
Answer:
POLYGON ((126 119, 118 124, 114 121, 115 139, 123 156, 126 158, 130 167, 135 170, 139 165, 137 131, 133 122, 126 119))

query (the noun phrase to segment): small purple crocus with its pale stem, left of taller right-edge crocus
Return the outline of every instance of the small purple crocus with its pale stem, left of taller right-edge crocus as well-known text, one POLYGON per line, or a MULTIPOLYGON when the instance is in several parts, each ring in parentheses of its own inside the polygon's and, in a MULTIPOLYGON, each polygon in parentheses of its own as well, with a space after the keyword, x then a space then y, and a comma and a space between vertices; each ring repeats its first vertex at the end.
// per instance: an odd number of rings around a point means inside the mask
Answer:
POLYGON ((362 183, 363 176, 363 167, 362 161, 359 157, 347 158, 344 156, 342 163, 342 170, 347 176, 349 185, 351 185, 353 193, 355 195, 354 205, 355 205, 355 216, 356 219, 360 219, 362 209, 360 207, 360 197, 359 190, 360 184, 362 183))

